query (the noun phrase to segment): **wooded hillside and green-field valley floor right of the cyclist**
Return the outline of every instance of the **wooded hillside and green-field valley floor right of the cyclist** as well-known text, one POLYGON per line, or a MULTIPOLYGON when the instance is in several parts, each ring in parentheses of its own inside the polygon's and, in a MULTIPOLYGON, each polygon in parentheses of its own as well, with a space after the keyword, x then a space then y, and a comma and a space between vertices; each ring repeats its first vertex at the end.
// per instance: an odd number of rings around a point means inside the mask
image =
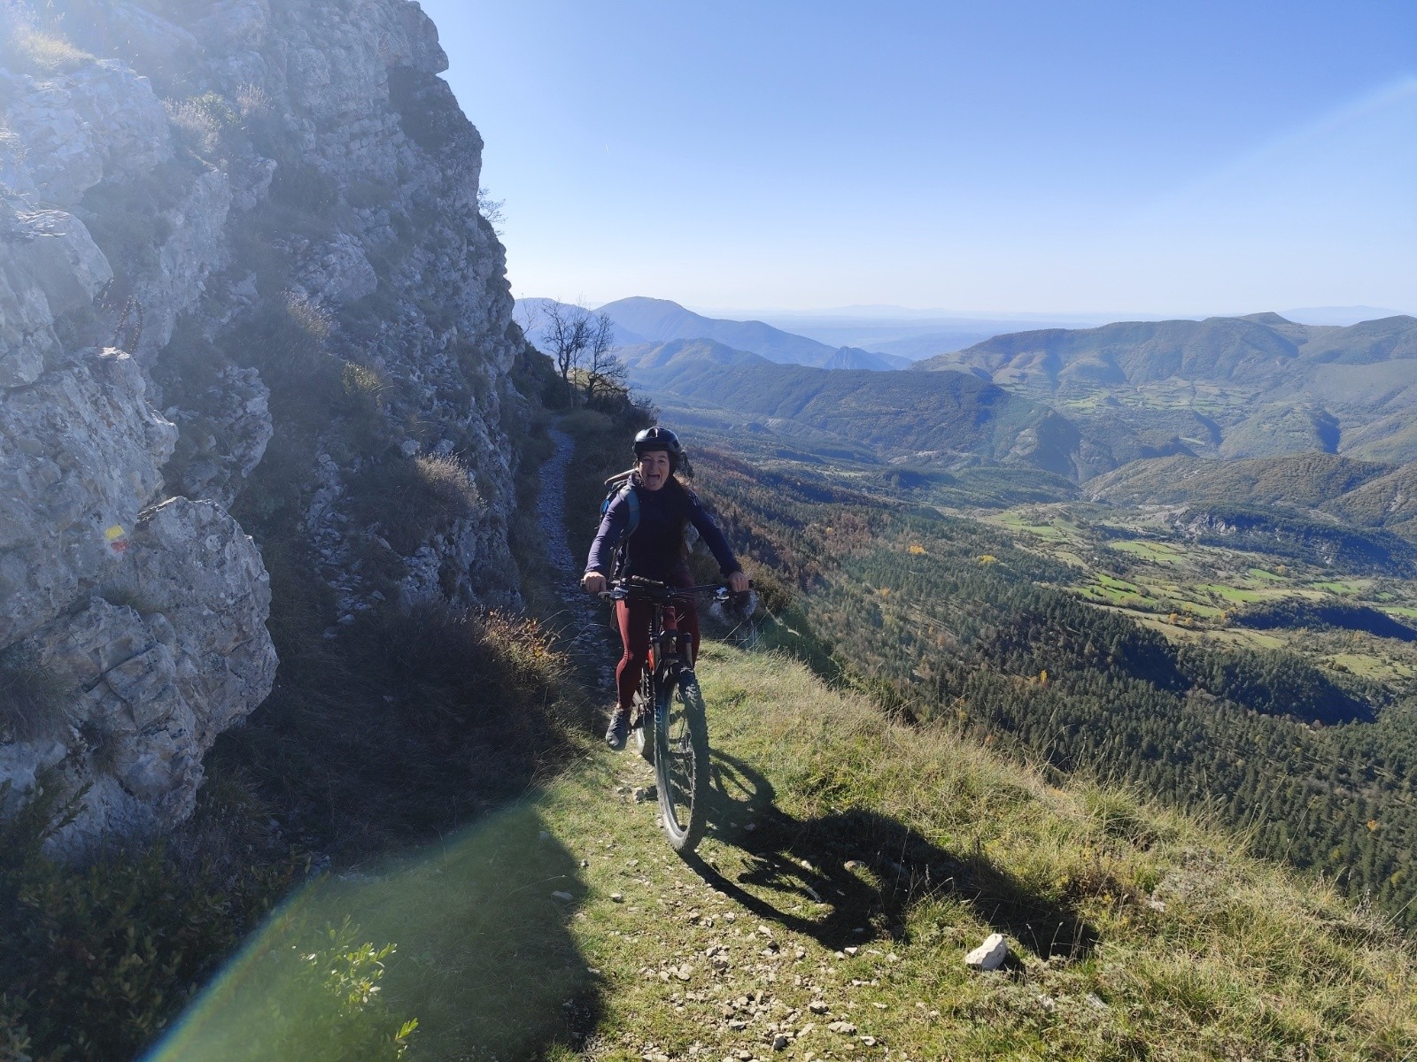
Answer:
POLYGON ((1122 513, 1022 507, 982 524, 786 462, 697 464, 730 538, 796 589, 784 623, 806 640, 788 644, 825 670, 905 718, 968 719, 1060 772, 1204 809, 1411 918, 1411 544, 1292 511, 1128 531, 1122 513), (1355 569, 1374 575, 1342 576, 1355 569), (1231 630, 1248 603, 1355 595, 1397 626, 1231 630))

